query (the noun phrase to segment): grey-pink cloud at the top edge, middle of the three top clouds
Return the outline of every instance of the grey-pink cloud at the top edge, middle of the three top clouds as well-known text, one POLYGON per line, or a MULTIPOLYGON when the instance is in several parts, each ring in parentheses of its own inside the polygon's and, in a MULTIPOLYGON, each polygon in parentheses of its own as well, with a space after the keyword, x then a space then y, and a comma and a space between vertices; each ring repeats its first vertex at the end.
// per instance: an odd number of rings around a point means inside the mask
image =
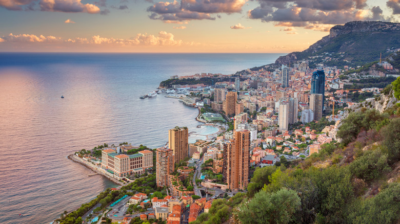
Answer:
MULTIPOLYGON (((147 8, 151 19, 159 20, 193 20, 210 19, 214 13, 239 13, 248 0, 181 0, 178 2, 158 2, 147 8)), ((221 15, 216 15, 220 18, 221 15)))

